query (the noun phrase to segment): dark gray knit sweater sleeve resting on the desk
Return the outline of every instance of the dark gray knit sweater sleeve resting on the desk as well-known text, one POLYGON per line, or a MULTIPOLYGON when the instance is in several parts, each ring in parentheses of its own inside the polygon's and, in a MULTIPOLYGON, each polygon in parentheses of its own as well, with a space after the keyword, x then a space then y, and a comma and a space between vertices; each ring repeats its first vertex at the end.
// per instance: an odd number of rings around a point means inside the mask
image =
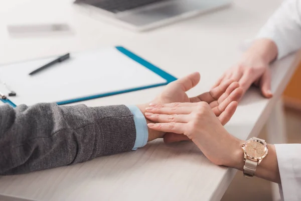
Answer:
POLYGON ((0 174, 19 174, 129 151, 136 138, 126 106, 0 106, 0 174))

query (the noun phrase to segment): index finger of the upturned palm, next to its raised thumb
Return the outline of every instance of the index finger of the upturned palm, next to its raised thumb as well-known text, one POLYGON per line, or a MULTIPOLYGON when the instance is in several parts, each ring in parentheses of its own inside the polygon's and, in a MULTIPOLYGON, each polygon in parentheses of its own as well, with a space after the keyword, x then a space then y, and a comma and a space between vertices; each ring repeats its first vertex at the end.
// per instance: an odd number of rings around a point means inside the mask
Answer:
POLYGON ((190 98, 191 100, 196 101, 196 99, 198 99, 200 101, 204 101, 207 102, 208 104, 210 104, 211 102, 213 102, 214 100, 217 100, 229 87, 229 85, 233 82, 233 80, 227 80, 225 82, 223 82, 221 85, 211 89, 208 92, 202 93, 201 95, 198 95, 196 97, 192 97, 190 98))

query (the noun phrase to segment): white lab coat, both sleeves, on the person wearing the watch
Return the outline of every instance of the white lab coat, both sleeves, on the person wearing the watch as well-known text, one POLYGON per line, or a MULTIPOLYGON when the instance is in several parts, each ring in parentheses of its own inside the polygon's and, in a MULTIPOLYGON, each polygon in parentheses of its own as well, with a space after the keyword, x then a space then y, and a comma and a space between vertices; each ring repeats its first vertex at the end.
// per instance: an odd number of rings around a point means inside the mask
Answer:
MULTIPOLYGON (((278 48, 278 59, 301 48, 300 13, 301 0, 284 1, 256 37, 273 40, 278 48)), ((301 144, 279 144, 275 147, 281 198, 285 201, 301 200, 301 144)))

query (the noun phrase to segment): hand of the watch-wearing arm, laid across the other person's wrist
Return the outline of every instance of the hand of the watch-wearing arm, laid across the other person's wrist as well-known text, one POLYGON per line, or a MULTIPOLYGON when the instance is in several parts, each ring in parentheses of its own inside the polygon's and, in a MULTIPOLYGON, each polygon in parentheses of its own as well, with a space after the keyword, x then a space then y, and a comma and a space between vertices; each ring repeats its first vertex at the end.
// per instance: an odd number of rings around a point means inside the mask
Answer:
MULTIPOLYGON (((235 101, 229 103, 224 113, 236 106, 235 101)), ((243 141, 225 130, 207 103, 160 104, 148 109, 145 116, 153 122, 159 122, 148 124, 150 129, 184 134, 211 162, 237 169, 243 166, 243 141)))

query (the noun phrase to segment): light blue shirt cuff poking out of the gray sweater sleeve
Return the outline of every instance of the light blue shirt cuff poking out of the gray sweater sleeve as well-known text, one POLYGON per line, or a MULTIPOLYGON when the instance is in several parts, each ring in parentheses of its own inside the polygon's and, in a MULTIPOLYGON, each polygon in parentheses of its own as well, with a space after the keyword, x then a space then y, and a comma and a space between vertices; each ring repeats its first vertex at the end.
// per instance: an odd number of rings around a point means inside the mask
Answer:
POLYGON ((130 112, 134 115, 134 122, 136 128, 136 140, 132 150, 143 147, 147 143, 148 130, 144 115, 136 106, 127 106, 130 112))

